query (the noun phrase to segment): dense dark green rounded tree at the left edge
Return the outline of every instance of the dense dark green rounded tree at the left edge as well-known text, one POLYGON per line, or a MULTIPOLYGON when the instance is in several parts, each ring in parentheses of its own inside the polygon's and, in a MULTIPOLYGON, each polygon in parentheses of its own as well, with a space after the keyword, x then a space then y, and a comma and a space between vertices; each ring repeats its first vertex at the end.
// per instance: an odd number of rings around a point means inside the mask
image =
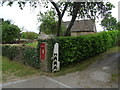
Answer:
POLYGON ((13 43, 20 38, 20 29, 17 25, 11 24, 11 21, 2 19, 2 42, 13 43))

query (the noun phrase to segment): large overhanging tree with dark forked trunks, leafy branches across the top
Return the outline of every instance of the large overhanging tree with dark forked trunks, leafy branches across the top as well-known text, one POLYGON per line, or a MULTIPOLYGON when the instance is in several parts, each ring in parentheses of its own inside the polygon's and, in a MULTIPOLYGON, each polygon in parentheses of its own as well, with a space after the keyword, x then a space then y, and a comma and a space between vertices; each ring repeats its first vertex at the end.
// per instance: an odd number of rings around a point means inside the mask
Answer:
MULTIPOLYGON (((4 2, 9 1, 5 0, 4 2)), ((42 0, 41 0, 42 1, 42 0)), ((93 0, 92 0, 93 1, 93 0)), ((3 3, 4 3, 3 2, 3 3)), ((9 1, 8 5, 12 5, 14 1, 9 1)), ((37 7, 38 5, 41 4, 39 0, 19 0, 17 1, 19 4, 19 7, 23 9, 25 6, 26 2, 30 3, 30 6, 32 7, 37 7)), ((64 32, 64 36, 67 36, 70 32, 70 29, 72 28, 74 21, 76 17, 79 18, 90 18, 95 20, 96 17, 99 17, 101 15, 104 16, 108 13, 110 13, 110 10, 114 7, 111 3, 109 2, 55 2, 53 0, 49 0, 51 4, 53 5, 53 8, 56 10, 56 14, 58 16, 58 22, 57 22, 57 36, 60 36, 60 31, 61 31, 61 22, 62 18, 65 14, 65 11, 69 12, 69 15, 72 16, 71 22, 68 26, 68 28, 64 32)), ((45 6, 46 8, 48 2, 46 1, 45 6)))

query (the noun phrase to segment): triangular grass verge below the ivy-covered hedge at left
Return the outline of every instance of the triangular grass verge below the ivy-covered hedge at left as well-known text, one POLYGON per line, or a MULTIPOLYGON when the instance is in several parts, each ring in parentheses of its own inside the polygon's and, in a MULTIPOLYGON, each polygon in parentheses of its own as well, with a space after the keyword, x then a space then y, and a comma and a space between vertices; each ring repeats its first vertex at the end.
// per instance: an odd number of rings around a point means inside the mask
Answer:
POLYGON ((41 75, 40 70, 2 57, 2 82, 41 75))

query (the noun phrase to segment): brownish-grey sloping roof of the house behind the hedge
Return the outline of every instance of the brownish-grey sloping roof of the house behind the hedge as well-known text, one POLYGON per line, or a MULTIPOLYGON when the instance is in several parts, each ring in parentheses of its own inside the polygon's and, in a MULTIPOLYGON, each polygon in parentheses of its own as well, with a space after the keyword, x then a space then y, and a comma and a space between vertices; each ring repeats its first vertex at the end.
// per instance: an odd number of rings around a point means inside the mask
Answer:
MULTIPOLYGON (((70 21, 63 22, 68 27, 70 21)), ((96 32, 95 23, 92 20, 76 20, 71 28, 72 32, 96 32)))

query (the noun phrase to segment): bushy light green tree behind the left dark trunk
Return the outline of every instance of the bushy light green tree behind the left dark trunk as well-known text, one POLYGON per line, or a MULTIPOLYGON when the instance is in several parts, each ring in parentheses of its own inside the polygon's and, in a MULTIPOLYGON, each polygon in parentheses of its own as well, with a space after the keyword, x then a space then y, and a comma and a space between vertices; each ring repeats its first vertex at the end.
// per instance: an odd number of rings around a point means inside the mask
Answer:
MULTIPOLYGON (((40 25, 40 32, 44 32, 46 34, 52 34, 52 35, 56 35, 57 32, 57 20, 56 20, 56 15, 54 13, 54 11, 52 10, 48 10, 47 12, 44 13, 40 13, 38 15, 38 21, 41 21, 41 25, 40 25)), ((60 35, 63 34, 63 31, 66 29, 66 27, 62 24, 61 26, 61 31, 60 31, 60 35)))

